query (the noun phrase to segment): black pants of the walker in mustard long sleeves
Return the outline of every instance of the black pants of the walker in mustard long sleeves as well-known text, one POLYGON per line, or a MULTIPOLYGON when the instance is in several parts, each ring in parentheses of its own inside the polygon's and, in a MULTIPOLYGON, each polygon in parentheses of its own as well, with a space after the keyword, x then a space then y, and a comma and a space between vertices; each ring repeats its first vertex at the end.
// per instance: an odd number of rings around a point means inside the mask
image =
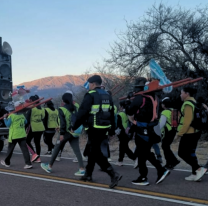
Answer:
POLYGON ((195 153, 200 136, 201 132, 184 134, 179 143, 178 155, 192 167, 192 174, 196 174, 196 170, 200 168, 195 153))

